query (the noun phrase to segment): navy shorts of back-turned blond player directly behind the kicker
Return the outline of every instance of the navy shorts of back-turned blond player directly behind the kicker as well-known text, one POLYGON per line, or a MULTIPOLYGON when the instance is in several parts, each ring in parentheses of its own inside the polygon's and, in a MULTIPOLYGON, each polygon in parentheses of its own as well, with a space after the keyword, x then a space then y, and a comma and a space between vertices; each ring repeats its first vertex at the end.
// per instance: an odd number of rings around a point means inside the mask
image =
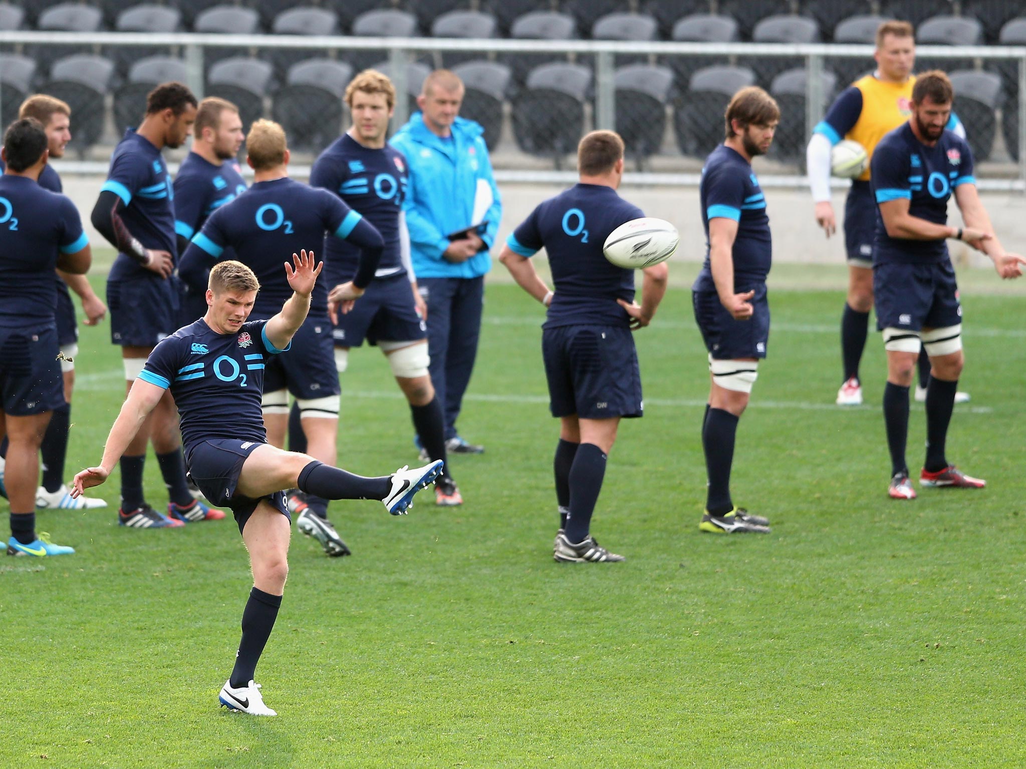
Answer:
POLYGON ((264 369, 264 392, 285 389, 304 400, 326 398, 342 392, 334 368, 331 321, 327 318, 307 318, 292 337, 292 346, 268 360, 264 369))

